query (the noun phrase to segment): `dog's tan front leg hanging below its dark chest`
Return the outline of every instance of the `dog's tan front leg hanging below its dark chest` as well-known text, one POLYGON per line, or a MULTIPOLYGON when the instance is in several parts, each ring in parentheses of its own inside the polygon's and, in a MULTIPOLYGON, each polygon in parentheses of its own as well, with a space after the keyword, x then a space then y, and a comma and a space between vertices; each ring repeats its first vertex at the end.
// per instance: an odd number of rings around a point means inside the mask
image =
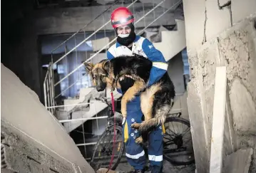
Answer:
POLYGON ((132 87, 130 87, 126 93, 123 95, 123 98, 121 100, 121 112, 123 114, 123 117, 127 116, 127 103, 130 100, 133 100, 135 98, 135 95, 140 92, 140 90, 143 90, 145 87, 145 83, 143 80, 136 80, 132 87))

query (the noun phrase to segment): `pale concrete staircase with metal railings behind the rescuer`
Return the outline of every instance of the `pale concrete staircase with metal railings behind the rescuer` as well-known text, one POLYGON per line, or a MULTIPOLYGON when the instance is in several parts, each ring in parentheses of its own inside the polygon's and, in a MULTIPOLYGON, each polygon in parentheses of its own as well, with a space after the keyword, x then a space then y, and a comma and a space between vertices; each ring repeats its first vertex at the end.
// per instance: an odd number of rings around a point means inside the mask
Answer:
MULTIPOLYGON (((135 2, 138 0, 133 1, 132 4, 128 6, 128 8, 132 8, 135 2)), ((160 6, 165 6, 165 1, 159 1, 158 4, 154 6, 153 9, 148 11, 147 13, 143 13, 144 15, 140 19, 135 19, 135 24, 138 23, 139 21, 145 19, 145 16, 148 16, 148 14, 153 13, 154 9, 160 8, 160 6)), ((177 8, 177 6, 182 3, 182 0, 177 1, 173 0, 172 5, 170 5, 170 1, 168 1, 168 9, 165 9, 163 11, 163 14, 160 14, 160 16, 155 16, 155 19, 149 23, 147 26, 143 28, 143 30, 140 30, 137 34, 140 35, 143 31, 145 31, 148 26, 151 26, 152 23, 160 19, 161 16, 164 14, 168 13, 170 10, 174 10, 177 8)), ((166 8, 166 6, 165 6, 166 8)), ((144 11, 143 11, 144 12, 144 11)), ((83 41, 80 43, 75 43, 75 46, 70 50, 66 50, 65 48, 65 54, 61 56, 57 61, 49 63, 49 68, 48 72, 46 74, 46 78, 43 83, 43 88, 44 88, 44 93, 45 93, 45 106, 48 109, 49 112, 52 114, 56 115, 58 120, 60 122, 63 122, 64 127, 66 127, 66 130, 68 132, 71 132, 72 130, 76 129, 79 125, 81 125, 83 122, 86 122, 86 120, 94 119, 93 116, 98 114, 98 112, 101 112, 102 110, 106 109, 107 105, 105 103, 98 102, 93 99, 93 97, 101 97, 101 96, 106 96, 110 98, 109 91, 104 91, 101 93, 98 93, 93 86, 89 88, 81 88, 79 97, 78 98, 72 98, 72 99, 66 99, 64 100, 64 105, 63 106, 56 106, 55 100, 58 98, 59 95, 55 95, 55 88, 57 85, 60 85, 61 83, 64 83, 68 78, 73 75, 74 73, 78 73, 81 68, 83 67, 83 64, 79 62, 80 65, 78 65, 75 69, 73 69, 70 73, 67 73, 67 75, 61 80, 54 82, 53 79, 53 65, 58 65, 61 63, 61 61, 67 59, 68 55, 71 53, 77 54, 77 50, 79 49, 79 46, 82 46, 83 44, 87 43, 86 41, 89 40, 89 38, 93 37, 94 34, 96 34, 98 31, 101 31, 104 26, 108 25, 110 21, 106 22, 103 26, 98 28, 94 33, 92 33, 90 36, 86 37, 83 41), (106 95, 106 94, 107 95, 106 95), (72 120, 67 120, 68 118, 71 118, 72 115, 72 120)), ((173 58, 177 53, 183 50, 185 48, 185 24, 184 21, 176 20, 177 23, 177 31, 162 31, 161 38, 162 41, 159 43, 153 43, 155 48, 158 48, 163 53, 163 56, 165 56, 165 60, 169 61, 170 58, 173 58)), ((67 41, 71 40, 73 37, 76 38, 76 34, 73 34, 71 38, 68 38, 67 41)), ((66 46, 66 42, 61 43, 60 46, 55 48, 52 52, 52 56, 54 56, 54 51, 56 51, 59 47, 61 46, 66 46)), ((94 40, 94 46, 93 51, 96 51, 96 53, 93 53, 93 55, 86 60, 86 62, 91 61, 93 63, 96 63, 100 61, 102 58, 106 57, 105 53, 101 53, 101 51, 106 50, 111 44, 115 43, 116 38, 113 38, 111 41, 109 38, 101 38, 101 40, 94 40), (99 43, 97 43, 97 41, 99 43), (104 41, 104 44, 103 44, 104 41), (104 55, 105 54, 105 55, 104 55)), ((75 61, 75 59, 74 59, 75 61)), ((77 61, 77 58, 76 58, 77 61)), ((87 74, 86 74, 87 75, 87 74)), ((76 80, 75 83, 68 85, 63 92, 66 92, 70 90, 76 83, 79 81, 76 80)), ((119 93, 114 93, 115 98, 120 98, 121 95, 119 93)))

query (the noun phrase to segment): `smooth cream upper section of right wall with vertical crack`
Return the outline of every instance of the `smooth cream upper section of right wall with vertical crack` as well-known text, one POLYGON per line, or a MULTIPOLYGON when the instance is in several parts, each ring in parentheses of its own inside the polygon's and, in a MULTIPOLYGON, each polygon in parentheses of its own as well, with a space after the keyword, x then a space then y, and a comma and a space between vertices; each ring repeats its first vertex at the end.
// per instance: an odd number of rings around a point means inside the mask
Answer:
POLYGON ((255 0, 183 0, 188 50, 256 12, 255 0))

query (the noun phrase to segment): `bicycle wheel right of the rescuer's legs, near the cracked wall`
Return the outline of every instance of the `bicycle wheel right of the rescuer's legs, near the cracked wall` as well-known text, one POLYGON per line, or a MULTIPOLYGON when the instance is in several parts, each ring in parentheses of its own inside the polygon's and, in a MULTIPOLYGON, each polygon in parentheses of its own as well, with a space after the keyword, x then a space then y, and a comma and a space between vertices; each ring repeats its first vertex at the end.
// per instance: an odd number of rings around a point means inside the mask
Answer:
POLYGON ((188 120, 182 117, 166 118, 163 158, 176 165, 188 165, 195 162, 190 122, 188 120), (178 132, 183 127, 185 127, 185 131, 178 132))

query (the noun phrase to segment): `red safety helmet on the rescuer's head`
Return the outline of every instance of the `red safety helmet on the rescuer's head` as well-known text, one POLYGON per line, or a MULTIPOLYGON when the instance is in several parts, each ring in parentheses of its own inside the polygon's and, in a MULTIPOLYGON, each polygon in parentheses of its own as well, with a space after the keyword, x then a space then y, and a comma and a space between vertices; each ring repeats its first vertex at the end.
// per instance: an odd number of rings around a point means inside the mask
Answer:
POLYGON ((118 7, 111 14, 111 23, 113 28, 118 28, 119 26, 126 26, 134 21, 133 14, 126 7, 118 7))

